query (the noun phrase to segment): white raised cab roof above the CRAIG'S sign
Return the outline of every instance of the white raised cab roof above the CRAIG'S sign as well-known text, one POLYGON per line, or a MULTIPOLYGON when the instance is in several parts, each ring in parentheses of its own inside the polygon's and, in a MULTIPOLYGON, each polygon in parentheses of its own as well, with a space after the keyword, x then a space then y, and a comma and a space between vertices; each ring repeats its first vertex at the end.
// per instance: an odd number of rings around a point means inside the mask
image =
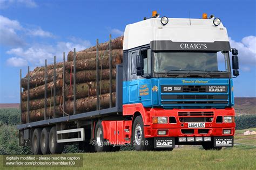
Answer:
POLYGON ((153 40, 171 40, 173 42, 214 42, 229 41, 227 30, 213 19, 169 18, 163 26, 161 18, 150 18, 126 25, 123 49, 150 44, 153 40), (191 22, 191 25, 190 25, 191 22))

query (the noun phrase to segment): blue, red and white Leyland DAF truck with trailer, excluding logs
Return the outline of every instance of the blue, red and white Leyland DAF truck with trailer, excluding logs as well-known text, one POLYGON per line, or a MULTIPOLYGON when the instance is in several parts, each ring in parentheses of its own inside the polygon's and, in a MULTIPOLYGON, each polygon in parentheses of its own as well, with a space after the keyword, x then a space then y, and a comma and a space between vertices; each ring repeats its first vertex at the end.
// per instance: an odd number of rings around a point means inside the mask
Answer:
MULTIPOLYGON (((70 115, 28 119, 17 126, 19 145, 31 146, 33 154, 62 153, 64 145, 73 143, 90 152, 118 151, 127 145, 137 151, 171 151, 176 145, 201 145, 205 150, 232 147, 237 55, 220 18, 206 13, 201 19, 160 18, 153 11, 152 17, 125 27, 123 61, 116 65, 115 103, 110 99, 110 107, 101 109, 97 85, 96 110, 77 114, 74 104, 70 115)), ((98 58, 96 68, 99 73, 98 58)))

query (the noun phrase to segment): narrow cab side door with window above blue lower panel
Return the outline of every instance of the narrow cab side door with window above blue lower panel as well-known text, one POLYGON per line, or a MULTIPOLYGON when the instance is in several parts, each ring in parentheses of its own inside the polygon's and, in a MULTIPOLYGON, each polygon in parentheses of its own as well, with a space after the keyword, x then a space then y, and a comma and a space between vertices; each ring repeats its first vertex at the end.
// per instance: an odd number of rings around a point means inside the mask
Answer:
POLYGON ((129 60, 129 103, 138 102, 138 76, 136 69, 136 58, 139 54, 139 51, 130 52, 130 60, 129 60))

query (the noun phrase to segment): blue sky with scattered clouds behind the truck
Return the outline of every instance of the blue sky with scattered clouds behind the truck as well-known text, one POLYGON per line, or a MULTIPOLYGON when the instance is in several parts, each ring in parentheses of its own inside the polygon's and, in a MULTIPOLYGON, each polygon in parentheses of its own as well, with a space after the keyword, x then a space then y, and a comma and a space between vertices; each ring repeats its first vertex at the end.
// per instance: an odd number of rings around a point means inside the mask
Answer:
POLYGON ((82 1, 0 0, 0 103, 19 103, 19 69, 61 61, 68 54, 123 34, 127 24, 153 10, 170 18, 219 17, 231 47, 239 51, 235 97, 256 97, 256 2, 253 1, 82 1))

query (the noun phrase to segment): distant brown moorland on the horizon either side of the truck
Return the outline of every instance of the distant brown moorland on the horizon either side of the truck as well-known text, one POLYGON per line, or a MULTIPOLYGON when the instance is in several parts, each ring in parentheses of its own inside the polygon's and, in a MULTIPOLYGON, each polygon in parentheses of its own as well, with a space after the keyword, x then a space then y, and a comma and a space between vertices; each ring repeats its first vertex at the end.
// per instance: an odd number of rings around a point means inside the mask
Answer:
MULTIPOLYGON (((19 103, 0 103, 0 108, 19 108, 19 103)), ((235 97, 237 115, 256 114, 256 97, 235 97)))

